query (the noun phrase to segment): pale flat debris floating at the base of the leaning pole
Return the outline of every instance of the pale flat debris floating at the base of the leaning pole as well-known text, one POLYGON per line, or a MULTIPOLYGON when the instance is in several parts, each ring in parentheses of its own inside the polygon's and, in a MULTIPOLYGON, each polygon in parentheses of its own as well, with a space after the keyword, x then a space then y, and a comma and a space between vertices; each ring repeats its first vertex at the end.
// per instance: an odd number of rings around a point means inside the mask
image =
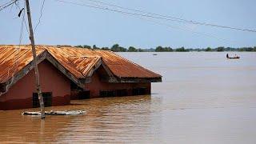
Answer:
MULTIPOLYGON (((22 113, 23 115, 41 115, 40 111, 25 111, 22 113)), ((86 114, 86 111, 84 110, 71 110, 71 111, 46 111, 45 114, 47 115, 79 115, 79 114, 86 114)))

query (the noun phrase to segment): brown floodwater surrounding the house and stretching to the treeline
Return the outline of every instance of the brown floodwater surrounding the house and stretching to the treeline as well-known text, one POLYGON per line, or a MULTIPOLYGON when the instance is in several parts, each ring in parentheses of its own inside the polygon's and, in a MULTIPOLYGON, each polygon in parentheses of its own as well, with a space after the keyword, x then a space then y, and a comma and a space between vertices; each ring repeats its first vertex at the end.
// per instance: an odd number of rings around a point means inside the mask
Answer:
MULTIPOLYGON (((46 110, 0 111, 0 142, 255 143, 256 53, 121 53, 163 76, 151 95, 72 101, 46 110)), ((35 109, 32 109, 35 110, 35 109)))

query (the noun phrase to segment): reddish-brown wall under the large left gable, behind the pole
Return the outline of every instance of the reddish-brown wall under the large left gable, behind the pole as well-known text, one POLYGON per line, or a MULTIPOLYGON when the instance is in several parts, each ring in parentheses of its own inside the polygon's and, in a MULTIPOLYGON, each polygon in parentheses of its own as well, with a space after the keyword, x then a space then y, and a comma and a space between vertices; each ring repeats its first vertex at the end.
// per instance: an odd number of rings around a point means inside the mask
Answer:
MULTIPOLYGON (((70 104, 70 80, 48 61, 39 63, 42 92, 52 92, 52 106, 70 104)), ((34 70, 10 87, 0 97, 0 110, 14 110, 32 107, 32 95, 35 90, 34 70)))

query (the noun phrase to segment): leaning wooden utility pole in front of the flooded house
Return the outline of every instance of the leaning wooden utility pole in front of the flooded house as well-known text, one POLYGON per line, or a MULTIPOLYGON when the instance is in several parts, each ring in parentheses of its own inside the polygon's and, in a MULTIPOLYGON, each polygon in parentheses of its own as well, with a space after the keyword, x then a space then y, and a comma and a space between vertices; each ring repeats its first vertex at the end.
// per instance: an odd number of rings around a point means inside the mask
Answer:
POLYGON ((37 92, 38 92, 38 100, 40 103, 40 109, 41 109, 41 118, 46 118, 45 116, 45 106, 43 103, 43 98, 42 98, 42 91, 40 87, 40 81, 39 81, 39 72, 38 72, 38 62, 36 60, 37 54, 34 46, 34 33, 33 33, 33 27, 32 27, 32 21, 31 21, 31 14, 30 14, 30 2, 29 0, 26 0, 26 13, 27 13, 27 19, 29 22, 29 27, 30 27, 30 42, 32 46, 32 53, 33 53, 33 65, 34 65, 34 73, 35 73, 35 79, 36 79, 36 87, 37 87, 37 92))

